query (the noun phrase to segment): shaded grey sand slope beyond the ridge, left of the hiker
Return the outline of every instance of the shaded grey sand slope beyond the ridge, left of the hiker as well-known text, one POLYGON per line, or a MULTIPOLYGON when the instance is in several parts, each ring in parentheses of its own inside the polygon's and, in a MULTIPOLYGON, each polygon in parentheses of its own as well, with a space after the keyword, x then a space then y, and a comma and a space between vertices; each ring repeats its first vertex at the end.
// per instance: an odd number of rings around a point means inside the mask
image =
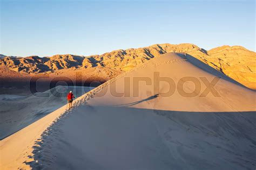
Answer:
POLYGON ((0 140, 66 104, 70 90, 79 97, 90 89, 57 86, 30 96, 0 95, 0 140))

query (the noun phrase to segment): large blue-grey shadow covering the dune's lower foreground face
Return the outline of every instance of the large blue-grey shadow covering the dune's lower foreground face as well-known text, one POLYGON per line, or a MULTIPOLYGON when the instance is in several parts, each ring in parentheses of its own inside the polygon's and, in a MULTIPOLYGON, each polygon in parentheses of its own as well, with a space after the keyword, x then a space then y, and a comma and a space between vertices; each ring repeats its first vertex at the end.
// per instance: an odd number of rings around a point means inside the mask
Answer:
MULTIPOLYGON (((132 103, 130 103, 132 104, 132 103)), ((250 169, 256 116, 91 107, 66 112, 33 146, 40 169, 250 169)))

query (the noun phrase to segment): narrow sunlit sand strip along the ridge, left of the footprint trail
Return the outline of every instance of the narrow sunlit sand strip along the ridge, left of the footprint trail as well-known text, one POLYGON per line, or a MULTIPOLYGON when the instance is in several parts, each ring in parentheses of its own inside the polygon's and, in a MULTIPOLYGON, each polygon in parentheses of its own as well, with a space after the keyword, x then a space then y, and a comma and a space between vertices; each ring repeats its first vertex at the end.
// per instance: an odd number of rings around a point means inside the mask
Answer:
MULTIPOLYGON (((134 70, 136 68, 133 68, 134 70)), ((130 70, 130 72, 132 72, 130 70)), ((127 73, 119 74, 113 79, 106 81, 100 86, 90 90, 84 95, 76 98, 73 101, 73 107, 78 107, 80 104, 85 103, 90 100, 90 98, 98 93, 103 88, 107 87, 110 83, 116 81, 120 77, 126 75, 127 73)), ((74 108, 71 109, 71 111, 74 108)), ((36 143, 42 141, 41 135, 47 134, 50 130, 49 127, 58 122, 62 116, 69 114, 71 111, 66 110, 66 105, 60 107, 59 109, 51 112, 51 114, 39 119, 38 121, 26 126, 24 129, 12 134, 9 137, 0 140, 0 168, 1 169, 30 169, 29 162, 35 161, 33 159, 33 148, 35 148, 36 143), (25 134, 25 135, 24 135, 25 134), (3 154, 4 157, 3 157, 3 154)))

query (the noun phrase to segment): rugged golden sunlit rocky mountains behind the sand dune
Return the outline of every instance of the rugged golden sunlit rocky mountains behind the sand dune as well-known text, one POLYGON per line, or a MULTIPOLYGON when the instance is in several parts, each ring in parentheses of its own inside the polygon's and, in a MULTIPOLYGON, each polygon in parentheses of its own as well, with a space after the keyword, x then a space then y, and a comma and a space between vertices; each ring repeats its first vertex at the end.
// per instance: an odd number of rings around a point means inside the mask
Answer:
MULTIPOLYGON (((101 77, 104 81, 119 73, 130 70, 151 58, 169 52, 190 54, 241 84, 256 89, 256 53, 241 46, 222 46, 206 51, 193 44, 156 44, 144 48, 119 49, 102 55, 91 56, 71 54, 53 55, 43 58, 39 56, 28 56, 25 58, 6 56, 0 59, 0 67, 23 74, 36 74, 41 77, 45 75, 67 76, 70 73, 80 71, 83 74, 90 73, 93 80, 101 77)), ((17 73, 17 75, 19 74, 17 73)), ((3 73, 2 76, 4 76, 3 73)), ((86 79, 89 78, 89 76, 85 77, 86 79)))

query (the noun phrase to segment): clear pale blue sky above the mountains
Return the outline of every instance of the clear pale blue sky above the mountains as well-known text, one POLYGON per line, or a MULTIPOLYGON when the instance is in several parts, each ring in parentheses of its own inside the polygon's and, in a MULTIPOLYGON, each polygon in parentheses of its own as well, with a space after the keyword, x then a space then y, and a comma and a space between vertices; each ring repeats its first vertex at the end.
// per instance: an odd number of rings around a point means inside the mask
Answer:
POLYGON ((255 51, 255 1, 1 1, 0 53, 92 55, 153 44, 255 51))

